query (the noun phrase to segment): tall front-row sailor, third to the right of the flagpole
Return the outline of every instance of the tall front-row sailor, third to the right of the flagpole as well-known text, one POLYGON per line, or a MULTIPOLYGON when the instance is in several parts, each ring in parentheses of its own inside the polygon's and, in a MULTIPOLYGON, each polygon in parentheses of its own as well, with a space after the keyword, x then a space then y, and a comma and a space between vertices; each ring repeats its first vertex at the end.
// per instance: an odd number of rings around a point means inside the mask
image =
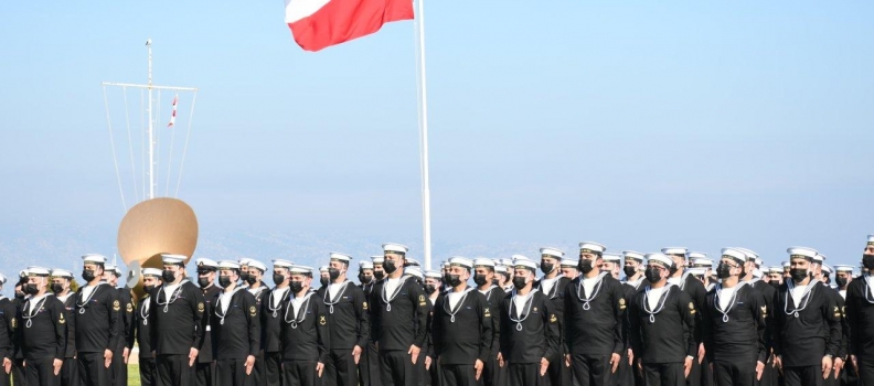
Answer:
POLYGON ((580 276, 565 287, 565 361, 579 385, 616 385, 626 351, 625 292, 610 271, 600 270, 606 249, 598 243, 580 243, 580 276))

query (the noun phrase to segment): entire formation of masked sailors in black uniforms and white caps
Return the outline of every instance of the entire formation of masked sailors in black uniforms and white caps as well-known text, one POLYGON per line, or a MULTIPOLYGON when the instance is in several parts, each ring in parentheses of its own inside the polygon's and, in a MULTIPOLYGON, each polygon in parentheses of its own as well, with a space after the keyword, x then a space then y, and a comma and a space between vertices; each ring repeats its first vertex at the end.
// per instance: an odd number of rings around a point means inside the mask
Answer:
POLYGON ((874 235, 859 276, 807 247, 780 267, 736 247, 584 242, 427 271, 407 253, 331 253, 320 286, 283 259, 196 259, 195 283, 162 255, 136 303, 104 256, 83 256, 76 291, 29 267, 0 298, 0 386, 127 385, 134 352, 145 386, 874 386, 874 235))

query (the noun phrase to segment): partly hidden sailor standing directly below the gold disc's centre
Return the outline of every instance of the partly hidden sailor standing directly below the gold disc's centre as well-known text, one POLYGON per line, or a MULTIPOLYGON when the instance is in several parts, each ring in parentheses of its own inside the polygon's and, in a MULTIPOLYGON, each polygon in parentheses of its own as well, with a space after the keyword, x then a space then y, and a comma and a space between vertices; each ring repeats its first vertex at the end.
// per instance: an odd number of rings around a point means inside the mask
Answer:
POLYGON ((151 324, 149 324, 149 313, 151 313, 151 296, 154 289, 161 287, 161 270, 158 268, 142 269, 142 290, 146 296, 137 303, 137 311, 134 313, 134 329, 139 345, 140 364, 140 385, 157 386, 161 383, 158 379, 158 369, 154 364, 154 355, 151 347, 151 324))

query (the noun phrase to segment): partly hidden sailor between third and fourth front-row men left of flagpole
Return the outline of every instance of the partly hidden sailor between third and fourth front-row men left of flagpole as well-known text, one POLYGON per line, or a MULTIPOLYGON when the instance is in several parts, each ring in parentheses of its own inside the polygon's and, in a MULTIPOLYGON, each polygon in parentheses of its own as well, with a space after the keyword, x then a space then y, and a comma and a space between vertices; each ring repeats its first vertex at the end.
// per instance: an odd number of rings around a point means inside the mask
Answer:
POLYGON ((264 383, 267 386, 281 386, 287 383, 283 379, 283 352, 279 347, 279 334, 283 329, 283 304, 288 301, 291 291, 288 283, 291 274, 288 269, 294 262, 276 259, 273 260, 273 280, 276 287, 270 290, 267 298, 262 301, 262 351, 264 352, 264 383))

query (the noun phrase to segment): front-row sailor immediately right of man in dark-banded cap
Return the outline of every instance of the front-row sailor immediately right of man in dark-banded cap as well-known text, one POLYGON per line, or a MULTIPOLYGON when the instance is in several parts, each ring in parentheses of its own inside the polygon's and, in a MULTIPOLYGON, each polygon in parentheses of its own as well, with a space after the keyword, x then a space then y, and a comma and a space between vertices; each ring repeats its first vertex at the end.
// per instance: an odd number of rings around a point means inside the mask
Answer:
POLYGON ((218 283, 223 292, 214 300, 210 318, 218 386, 256 385, 253 369, 260 351, 258 305, 252 293, 237 287, 237 281, 239 265, 218 261, 218 283))

